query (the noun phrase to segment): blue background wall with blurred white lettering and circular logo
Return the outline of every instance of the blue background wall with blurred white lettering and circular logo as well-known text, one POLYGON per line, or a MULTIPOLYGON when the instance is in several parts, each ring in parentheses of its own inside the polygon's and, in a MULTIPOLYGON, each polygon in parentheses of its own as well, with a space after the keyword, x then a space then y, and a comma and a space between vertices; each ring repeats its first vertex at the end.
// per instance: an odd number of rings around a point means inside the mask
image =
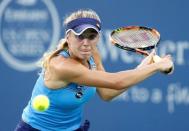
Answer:
POLYGON ((113 47, 111 30, 128 25, 161 33, 158 54, 171 54, 175 72, 156 74, 112 102, 98 96, 85 107, 91 131, 189 130, 189 17, 187 0, 4 0, 0 3, 0 131, 20 120, 40 71, 35 63, 63 37, 63 17, 80 8, 94 9, 103 23, 99 43, 107 71, 136 67, 141 58, 113 47))

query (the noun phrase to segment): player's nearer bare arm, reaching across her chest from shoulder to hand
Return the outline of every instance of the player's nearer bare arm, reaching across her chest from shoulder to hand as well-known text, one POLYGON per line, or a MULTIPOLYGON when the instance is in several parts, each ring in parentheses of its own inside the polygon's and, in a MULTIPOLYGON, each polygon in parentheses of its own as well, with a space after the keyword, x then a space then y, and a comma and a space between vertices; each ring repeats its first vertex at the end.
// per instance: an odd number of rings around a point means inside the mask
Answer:
POLYGON ((171 60, 165 57, 159 63, 142 66, 128 71, 108 73, 102 70, 89 70, 77 60, 57 56, 50 62, 51 80, 56 83, 78 83, 115 90, 124 90, 148 78, 159 70, 171 67, 171 60))

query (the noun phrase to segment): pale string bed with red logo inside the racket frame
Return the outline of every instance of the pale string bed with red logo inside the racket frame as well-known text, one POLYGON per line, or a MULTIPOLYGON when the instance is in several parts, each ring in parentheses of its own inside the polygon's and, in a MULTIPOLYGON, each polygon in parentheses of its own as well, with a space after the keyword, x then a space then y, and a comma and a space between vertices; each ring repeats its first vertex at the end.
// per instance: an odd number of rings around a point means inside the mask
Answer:
POLYGON ((159 41, 159 36, 150 30, 126 30, 120 31, 113 35, 122 46, 129 48, 146 48, 155 46, 159 41))

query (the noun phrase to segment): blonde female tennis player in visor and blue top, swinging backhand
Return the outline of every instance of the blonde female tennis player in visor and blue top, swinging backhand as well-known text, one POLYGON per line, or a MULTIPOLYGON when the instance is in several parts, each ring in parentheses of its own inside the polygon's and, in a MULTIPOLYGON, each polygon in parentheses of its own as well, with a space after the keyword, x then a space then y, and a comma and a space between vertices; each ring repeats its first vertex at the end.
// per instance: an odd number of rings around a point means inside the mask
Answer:
POLYGON ((90 9, 73 12, 65 18, 64 26, 65 38, 60 40, 56 50, 44 55, 42 73, 15 131, 87 131, 89 121, 81 123, 83 106, 96 92, 109 101, 172 66, 169 55, 153 63, 154 53, 151 53, 137 68, 106 72, 96 47, 101 33, 101 21, 96 12, 90 9), (50 100, 50 107, 44 112, 31 106, 32 99, 39 94, 50 100))

